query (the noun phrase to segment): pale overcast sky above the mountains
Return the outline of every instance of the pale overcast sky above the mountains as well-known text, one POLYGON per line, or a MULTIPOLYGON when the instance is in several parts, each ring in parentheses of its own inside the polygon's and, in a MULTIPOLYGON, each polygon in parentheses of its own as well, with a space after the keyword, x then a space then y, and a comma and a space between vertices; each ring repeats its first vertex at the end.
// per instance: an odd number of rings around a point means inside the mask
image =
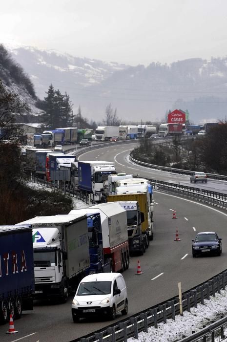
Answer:
POLYGON ((226 0, 5 0, 0 43, 106 62, 227 56, 226 0))

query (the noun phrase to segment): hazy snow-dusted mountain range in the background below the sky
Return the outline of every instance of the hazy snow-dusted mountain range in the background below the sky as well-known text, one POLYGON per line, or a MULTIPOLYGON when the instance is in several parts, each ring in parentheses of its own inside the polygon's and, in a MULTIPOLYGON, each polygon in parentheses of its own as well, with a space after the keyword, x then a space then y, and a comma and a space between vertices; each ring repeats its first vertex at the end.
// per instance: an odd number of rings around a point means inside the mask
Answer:
POLYGON ((38 97, 43 99, 52 83, 88 119, 101 121, 109 103, 123 121, 161 121, 166 111, 176 108, 187 109, 194 123, 226 116, 227 58, 132 67, 33 47, 10 51, 38 97))

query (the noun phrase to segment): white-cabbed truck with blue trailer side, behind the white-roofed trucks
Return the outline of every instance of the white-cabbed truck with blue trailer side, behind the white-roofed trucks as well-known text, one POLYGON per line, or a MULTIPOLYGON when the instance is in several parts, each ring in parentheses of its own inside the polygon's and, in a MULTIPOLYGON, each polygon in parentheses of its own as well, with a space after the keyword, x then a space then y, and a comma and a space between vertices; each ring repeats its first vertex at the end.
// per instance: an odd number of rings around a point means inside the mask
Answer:
POLYGON ((116 173, 112 162, 78 161, 78 189, 88 193, 91 200, 100 202, 103 197, 104 182, 112 173, 116 173))

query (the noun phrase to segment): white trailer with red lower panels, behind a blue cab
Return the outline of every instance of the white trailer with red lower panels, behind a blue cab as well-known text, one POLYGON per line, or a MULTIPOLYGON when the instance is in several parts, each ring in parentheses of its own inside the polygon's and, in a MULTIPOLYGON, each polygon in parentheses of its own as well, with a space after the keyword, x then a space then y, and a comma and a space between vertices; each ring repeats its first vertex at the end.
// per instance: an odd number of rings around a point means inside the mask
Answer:
POLYGON ((118 203, 100 203, 85 209, 72 210, 69 215, 100 213, 103 235, 104 263, 110 262, 113 272, 129 266, 126 211, 118 203))

